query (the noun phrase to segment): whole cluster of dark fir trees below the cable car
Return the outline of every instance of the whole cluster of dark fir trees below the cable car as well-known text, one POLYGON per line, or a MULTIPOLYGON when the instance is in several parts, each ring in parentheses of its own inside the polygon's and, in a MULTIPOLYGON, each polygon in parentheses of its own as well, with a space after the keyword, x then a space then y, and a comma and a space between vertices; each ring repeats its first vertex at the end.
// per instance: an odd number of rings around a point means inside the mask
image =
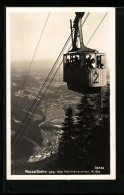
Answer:
POLYGON ((104 166, 104 173, 109 173, 109 89, 104 92, 102 109, 99 94, 82 95, 75 123, 72 109, 67 109, 58 152, 63 169, 93 170, 104 166))

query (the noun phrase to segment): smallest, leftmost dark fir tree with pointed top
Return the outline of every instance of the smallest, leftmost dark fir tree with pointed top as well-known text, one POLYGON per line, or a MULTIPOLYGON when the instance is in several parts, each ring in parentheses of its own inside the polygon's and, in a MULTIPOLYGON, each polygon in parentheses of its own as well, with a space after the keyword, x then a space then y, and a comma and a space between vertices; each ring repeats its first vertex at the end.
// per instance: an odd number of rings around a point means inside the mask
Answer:
POLYGON ((70 168, 74 157, 75 125, 73 111, 69 107, 66 111, 65 121, 62 127, 62 134, 59 138, 58 157, 61 168, 70 168))

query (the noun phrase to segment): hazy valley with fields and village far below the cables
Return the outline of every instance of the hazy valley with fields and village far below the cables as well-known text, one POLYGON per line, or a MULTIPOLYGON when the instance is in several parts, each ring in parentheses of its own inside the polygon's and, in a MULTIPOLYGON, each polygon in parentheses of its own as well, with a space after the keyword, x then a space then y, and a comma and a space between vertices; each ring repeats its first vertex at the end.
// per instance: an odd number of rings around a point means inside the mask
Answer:
MULTIPOLYGON (((38 72, 33 72, 28 76, 22 89, 24 73, 12 74, 11 139, 12 143, 14 142, 11 149, 12 174, 24 174, 25 167, 28 165, 33 167, 39 162, 43 167, 44 161, 45 164, 49 164, 57 155, 62 124, 69 106, 73 109, 76 120, 76 105, 82 94, 68 90, 66 83, 62 83, 60 74, 54 78, 42 97, 45 89, 40 93, 39 91, 46 76, 44 73, 39 75, 38 72)), ((103 89, 103 94, 105 90, 106 88, 103 89)), ((92 101, 90 98, 90 104, 93 104, 97 96, 95 94, 92 101)), ((99 118, 97 114, 96 117, 99 118)))

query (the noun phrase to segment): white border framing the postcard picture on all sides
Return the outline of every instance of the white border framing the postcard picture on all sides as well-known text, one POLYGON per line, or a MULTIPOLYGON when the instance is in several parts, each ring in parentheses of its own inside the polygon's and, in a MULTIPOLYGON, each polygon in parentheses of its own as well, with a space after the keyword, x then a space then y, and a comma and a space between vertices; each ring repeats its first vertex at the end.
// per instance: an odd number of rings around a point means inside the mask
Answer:
POLYGON ((115 119, 115 8, 82 7, 11 7, 6 8, 6 178, 7 180, 115 180, 116 179, 116 119, 115 119), (11 175, 11 85, 10 85, 10 13, 12 12, 108 12, 110 62, 110 175, 11 175))

